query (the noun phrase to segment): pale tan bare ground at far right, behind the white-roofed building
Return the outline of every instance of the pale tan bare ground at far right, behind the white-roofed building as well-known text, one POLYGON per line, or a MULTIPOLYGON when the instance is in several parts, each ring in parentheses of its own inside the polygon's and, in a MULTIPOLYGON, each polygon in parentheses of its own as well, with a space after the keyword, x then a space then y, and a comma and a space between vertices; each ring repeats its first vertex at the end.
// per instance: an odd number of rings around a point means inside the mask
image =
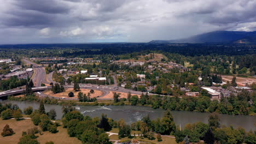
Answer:
MULTIPOLYGON (((222 80, 224 80, 225 82, 231 82, 232 78, 233 76, 231 75, 222 75, 222 80)), ((236 77, 236 83, 238 86, 245 86, 246 83, 251 85, 253 82, 256 82, 256 78, 254 77, 236 77)))

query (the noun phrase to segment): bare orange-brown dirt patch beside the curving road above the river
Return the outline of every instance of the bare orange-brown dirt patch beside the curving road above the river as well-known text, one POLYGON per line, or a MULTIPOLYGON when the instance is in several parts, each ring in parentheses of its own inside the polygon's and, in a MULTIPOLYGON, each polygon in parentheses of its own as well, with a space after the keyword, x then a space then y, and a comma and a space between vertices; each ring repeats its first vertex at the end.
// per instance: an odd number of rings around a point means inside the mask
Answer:
MULTIPOLYGON (((68 97, 68 93, 69 93, 69 92, 73 92, 73 93, 74 93, 74 97, 73 97, 73 98, 74 98, 74 99, 77 99, 77 98, 78 98, 77 95, 78 95, 79 92, 86 93, 86 95, 87 95, 87 94, 90 92, 90 89, 80 89, 80 91, 74 92, 74 91, 73 91, 73 88, 68 88, 68 89, 66 89, 65 92, 56 93, 56 94, 54 94, 53 92, 51 92, 51 91, 49 90, 49 91, 44 92, 44 94, 50 95, 50 96, 52 96, 52 97, 59 97, 59 98, 62 98, 62 97, 68 97)), ((100 95, 102 95, 102 94, 103 94, 102 91, 94 90, 94 93, 91 93, 91 94, 90 94, 90 97, 91 97, 91 98, 94 98, 94 97, 100 96, 100 95)))

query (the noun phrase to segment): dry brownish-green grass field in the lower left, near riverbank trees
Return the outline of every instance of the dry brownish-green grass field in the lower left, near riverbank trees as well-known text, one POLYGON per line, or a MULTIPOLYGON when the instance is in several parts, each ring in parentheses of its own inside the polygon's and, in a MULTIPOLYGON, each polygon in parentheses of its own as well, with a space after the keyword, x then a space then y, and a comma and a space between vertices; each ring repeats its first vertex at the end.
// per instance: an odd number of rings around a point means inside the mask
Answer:
MULTIPOLYGON (((16 144, 19 142, 19 140, 21 138, 22 131, 27 131, 27 129, 35 127, 30 119, 16 121, 16 119, 2 120, 0 118, 1 133, 2 133, 2 129, 4 128, 5 124, 9 124, 10 128, 13 129, 15 134, 11 135, 11 136, 5 136, 5 137, 0 135, 0 143, 1 144, 14 144, 14 143, 16 144)), ((69 137, 67 134, 67 129, 62 128, 62 126, 57 127, 57 130, 59 130, 59 132, 56 134, 51 134, 51 133, 49 133, 49 131, 42 132, 43 135, 36 134, 37 136, 39 136, 37 138, 37 140, 42 144, 47 141, 53 141, 54 143, 61 143, 61 144, 82 143, 75 137, 69 137)))

